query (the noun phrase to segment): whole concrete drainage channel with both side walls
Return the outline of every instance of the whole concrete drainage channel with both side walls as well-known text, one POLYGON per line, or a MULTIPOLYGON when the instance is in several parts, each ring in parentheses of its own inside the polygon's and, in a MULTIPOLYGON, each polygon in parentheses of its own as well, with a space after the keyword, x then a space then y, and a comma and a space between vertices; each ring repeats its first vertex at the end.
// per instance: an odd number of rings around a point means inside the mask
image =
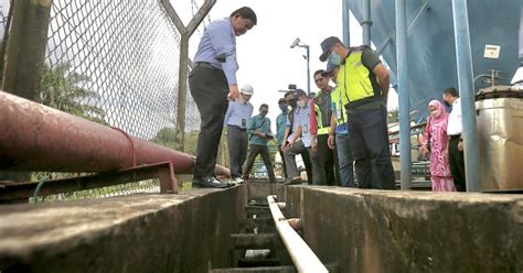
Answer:
MULTIPOLYGON (((296 272, 267 188, 0 206, 0 272, 296 272)), ((523 270, 522 195, 277 192, 330 272, 523 270)))

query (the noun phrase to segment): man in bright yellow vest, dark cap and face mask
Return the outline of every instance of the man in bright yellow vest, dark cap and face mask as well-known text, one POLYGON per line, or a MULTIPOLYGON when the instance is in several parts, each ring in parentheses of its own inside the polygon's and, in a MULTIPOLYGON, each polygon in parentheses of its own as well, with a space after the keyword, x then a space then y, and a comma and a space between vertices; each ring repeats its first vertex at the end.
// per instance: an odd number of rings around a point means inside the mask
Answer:
POLYGON ((345 47, 338 37, 321 42, 321 62, 340 65, 352 155, 361 188, 395 189, 387 133, 388 70, 367 46, 345 47))

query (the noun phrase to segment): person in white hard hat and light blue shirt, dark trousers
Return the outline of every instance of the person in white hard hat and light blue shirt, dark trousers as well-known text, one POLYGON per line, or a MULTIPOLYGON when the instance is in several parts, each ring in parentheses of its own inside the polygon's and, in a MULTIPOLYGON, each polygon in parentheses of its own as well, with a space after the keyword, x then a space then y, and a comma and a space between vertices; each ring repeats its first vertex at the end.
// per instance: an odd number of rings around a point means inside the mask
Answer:
POLYGON ((227 113, 225 113, 225 124, 227 125, 228 157, 231 162, 231 182, 241 184, 242 165, 247 157, 247 122, 253 116, 254 107, 250 97, 254 89, 245 85, 241 89, 241 97, 228 103, 227 113))

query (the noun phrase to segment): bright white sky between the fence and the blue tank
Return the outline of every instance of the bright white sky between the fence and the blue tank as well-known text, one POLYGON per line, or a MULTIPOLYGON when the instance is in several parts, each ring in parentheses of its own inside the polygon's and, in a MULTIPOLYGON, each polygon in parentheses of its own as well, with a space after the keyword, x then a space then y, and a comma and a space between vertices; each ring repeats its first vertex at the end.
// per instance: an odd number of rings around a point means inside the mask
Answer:
MULTIPOLYGON (((172 0, 177 10, 182 8, 186 0, 172 0)), ((198 3, 201 3, 200 1, 198 3)), ((289 84, 307 89, 307 61, 303 58, 306 50, 290 48, 295 39, 299 37, 310 46, 311 90, 318 88, 312 74, 324 69, 325 63, 319 61, 320 43, 328 36, 342 39, 342 1, 303 1, 303 0, 217 0, 210 13, 211 20, 228 17, 237 8, 250 7, 257 14, 258 24, 245 35, 236 37, 238 85, 249 84, 254 87, 250 102, 257 114, 260 103, 269 105, 268 117, 271 119, 273 130, 276 130, 276 117, 280 113, 278 99, 289 84)), ((186 9, 186 8, 185 8, 186 9)), ((190 9, 189 9, 190 10, 190 9)), ((195 11, 194 11, 195 12, 195 11)), ((189 22, 191 13, 180 14, 189 22)), ((351 45, 362 44, 360 24, 352 18, 351 45)), ((204 20, 209 23, 209 18, 204 20)), ((203 29, 203 26, 202 26, 203 29)), ((196 31, 190 40, 189 56, 194 57, 202 32, 196 31)), ((389 108, 397 107, 395 91, 389 95, 389 108)))

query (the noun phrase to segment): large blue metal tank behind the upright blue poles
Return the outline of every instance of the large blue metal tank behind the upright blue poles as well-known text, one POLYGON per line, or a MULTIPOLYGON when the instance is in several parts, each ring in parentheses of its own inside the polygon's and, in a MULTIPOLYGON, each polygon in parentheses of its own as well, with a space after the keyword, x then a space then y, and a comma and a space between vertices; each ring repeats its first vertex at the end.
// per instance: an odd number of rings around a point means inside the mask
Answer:
MULTIPOLYGON (((371 6, 371 37, 393 74, 396 73, 395 1, 345 0, 360 23, 364 23, 365 3, 371 6), (369 4, 369 3, 367 3, 369 4)), ((407 0, 407 86, 410 110, 428 114, 427 105, 441 99, 448 87, 457 87, 456 44, 451 0, 407 0)), ((509 85, 516 70, 517 31, 522 0, 468 1, 473 76, 501 72, 497 81, 509 85), (495 56, 485 57, 487 48, 494 47, 495 56)), ((355 45, 355 44, 353 44, 355 45)), ((395 83, 393 83, 394 85, 395 83)), ((476 88, 489 83, 477 80, 476 88)))

